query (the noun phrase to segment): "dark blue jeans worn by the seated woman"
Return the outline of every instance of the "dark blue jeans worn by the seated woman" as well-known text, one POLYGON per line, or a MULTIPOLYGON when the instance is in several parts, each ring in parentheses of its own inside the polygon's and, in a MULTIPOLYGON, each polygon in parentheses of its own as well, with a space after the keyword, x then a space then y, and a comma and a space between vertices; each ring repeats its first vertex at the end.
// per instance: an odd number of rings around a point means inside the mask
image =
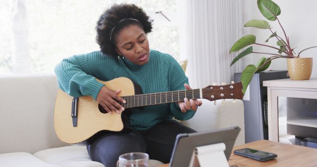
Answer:
POLYGON ((124 153, 146 152, 150 159, 169 163, 176 135, 192 133, 195 130, 174 120, 168 120, 153 127, 131 133, 106 133, 87 145, 90 158, 106 167, 116 167, 118 157, 124 153))

